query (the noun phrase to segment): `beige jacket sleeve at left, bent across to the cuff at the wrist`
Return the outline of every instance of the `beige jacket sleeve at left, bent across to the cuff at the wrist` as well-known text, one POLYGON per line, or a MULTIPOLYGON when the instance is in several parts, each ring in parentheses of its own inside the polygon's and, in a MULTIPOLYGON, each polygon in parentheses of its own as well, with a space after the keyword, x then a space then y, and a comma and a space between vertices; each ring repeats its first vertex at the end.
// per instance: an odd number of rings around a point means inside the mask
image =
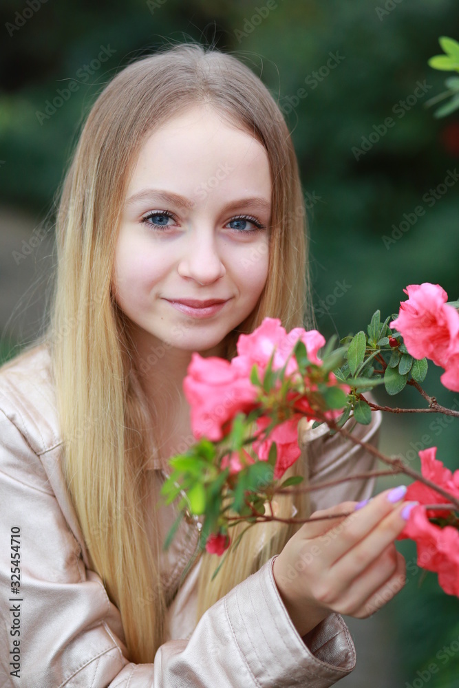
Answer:
POLYGON ((297 634, 277 592, 275 557, 215 603, 189 638, 161 645, 151 664, 130 663, 118 609, 85 567, 39 455, 1 411, 0 541, 2 686, 325 688, 354 668, 338 614, 309 634, 308 645, 297 634))

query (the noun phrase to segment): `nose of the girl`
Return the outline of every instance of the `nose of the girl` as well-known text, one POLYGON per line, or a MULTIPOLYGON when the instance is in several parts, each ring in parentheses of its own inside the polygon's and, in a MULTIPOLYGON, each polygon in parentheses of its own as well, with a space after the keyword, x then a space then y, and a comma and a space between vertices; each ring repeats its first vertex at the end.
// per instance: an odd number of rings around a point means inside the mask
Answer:
POLYGON ((212 284, 226 274, 213 233, 190 233, 180 257, 178 274, 202 285, 212 284))

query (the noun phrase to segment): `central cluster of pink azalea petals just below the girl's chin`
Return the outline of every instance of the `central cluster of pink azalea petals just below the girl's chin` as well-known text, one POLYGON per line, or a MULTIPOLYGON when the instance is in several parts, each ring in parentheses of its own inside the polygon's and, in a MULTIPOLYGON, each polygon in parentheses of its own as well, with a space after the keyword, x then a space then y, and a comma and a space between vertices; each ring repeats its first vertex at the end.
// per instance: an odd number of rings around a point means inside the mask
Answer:
MULTIPOLYGON (((212 356, 202 358, 200 354, 193 353, 188 374, 184 379, 184 393, 191 405, 191 427, 195 437, 205 436, 209 440, 221 440, 231 431, 231 421, 236 413, 250 413, 257 408, 258 390, 250 382, 253 365, 257 366, 259 377, 262 379, 270 356, 274 352, 273 369, 284 367, 299 339, 303 341, 311 363, 319 365, 321 361, 317 357, 317 352, 325 344, 323 336, 317 330, 306 332, 301 327, 295 327, 287 333, 277 318, 265 318, 254 332, 240 335, 237 342, 238 355, 231 361, 212 356)), ((297 361, 290 357, 286 374, 295 373, 299 374, 297 361)), ((336 378, 330 373, 328 384, 333 385, 336 382, 336 378)), ((349 390, 347 385, 340 386, 349 390)), ((293 396, 294 393, 289 393, 288 400, 292 401, 293 396)), ((336 418, 340 413, 341 411, 334 409, 327 411, 325 416, 336 418)), ((301 453, 297 442, 297 424, 302 416, 306 416, 308 420, 317 418, 317 413, 310 407, 307 396, 295 398, 295 416, 276 427, 269 440, 254 444, 259 457, 266 460, 271 444, 273 441, 276 442, 276 476, 282 475, 301 453)), ((259 420, 259 428, 263 422, 265 421, 259 420)), ((237 457, 226 458, 226 465, 231 466, 232 471, 240 470, 237 457)))

